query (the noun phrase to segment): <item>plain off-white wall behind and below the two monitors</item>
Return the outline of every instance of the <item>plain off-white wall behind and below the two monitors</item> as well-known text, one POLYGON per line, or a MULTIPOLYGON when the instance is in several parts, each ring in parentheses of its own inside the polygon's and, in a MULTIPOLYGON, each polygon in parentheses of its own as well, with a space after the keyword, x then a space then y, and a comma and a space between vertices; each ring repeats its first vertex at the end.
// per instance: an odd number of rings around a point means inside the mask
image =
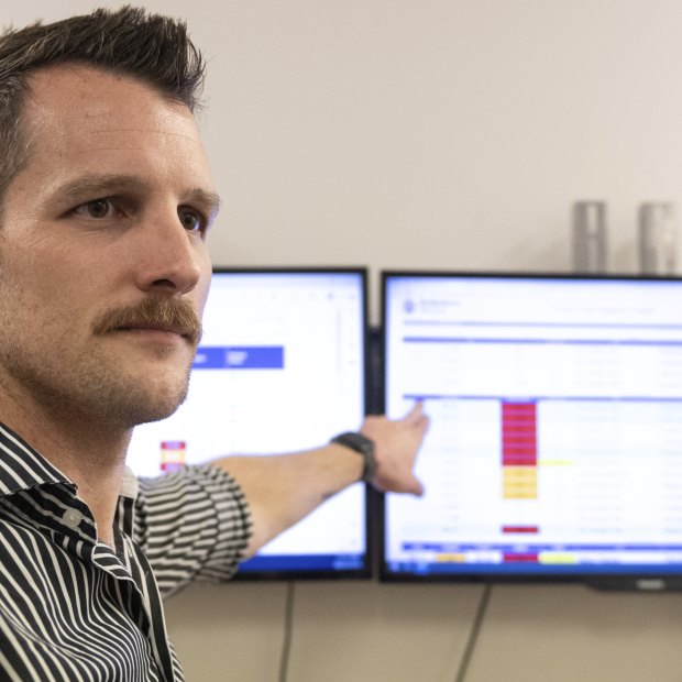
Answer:
MULTIPOLYGON (((570 205, 597 198, 635 272, 637 206, 682 208, 678 0, 146 4, 210 58, 216 264, 563 271, 570 205)), ((3 0, 0 22, 91 7, 3 0)), ((285 590, 172 600, 189 679, 276 680, 285 590)), ((480 592, 297 583, 289 680, 452 680, 480 592)), ((681 637, 680 595, 501 586, 468 680, 681 680, 681 637)))

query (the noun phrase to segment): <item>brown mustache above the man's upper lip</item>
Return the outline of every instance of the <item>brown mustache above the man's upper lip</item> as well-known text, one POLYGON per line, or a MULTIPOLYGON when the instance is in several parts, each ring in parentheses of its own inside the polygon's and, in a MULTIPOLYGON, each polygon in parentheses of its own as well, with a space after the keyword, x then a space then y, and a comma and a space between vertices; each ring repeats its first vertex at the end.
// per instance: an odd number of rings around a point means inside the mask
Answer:
POLYGON ((201 321, 183 299, 145 298, 139 304, 103 312, 92 324, 97 336, 125 328, 165 329, 186 337, 194 345, 201 339, 201 321))

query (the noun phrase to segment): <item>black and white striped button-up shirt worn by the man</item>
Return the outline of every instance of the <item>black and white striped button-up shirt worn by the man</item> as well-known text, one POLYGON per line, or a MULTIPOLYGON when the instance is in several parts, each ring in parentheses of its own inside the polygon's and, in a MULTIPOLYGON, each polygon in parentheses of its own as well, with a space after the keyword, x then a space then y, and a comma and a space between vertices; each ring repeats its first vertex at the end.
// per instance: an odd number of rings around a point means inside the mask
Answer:
POLYGON ((76 486, 0 425, 0 680, 183 680, 162 596, 227 580, 251 536, 241 488, 190 466, 129 472, 114 548, 76 486))

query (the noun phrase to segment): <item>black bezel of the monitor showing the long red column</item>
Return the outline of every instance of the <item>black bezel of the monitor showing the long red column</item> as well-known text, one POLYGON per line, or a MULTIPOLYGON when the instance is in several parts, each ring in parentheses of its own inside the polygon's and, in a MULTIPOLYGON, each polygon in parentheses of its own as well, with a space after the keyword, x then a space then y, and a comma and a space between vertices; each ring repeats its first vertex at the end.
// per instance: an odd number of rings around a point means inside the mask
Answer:
MULTIPOLYGON (((651 282, 651 283, 682 283, 680 275, 638 275, 631 273, 564 273, 564 272, 524 272, 524 271, 466 271, 466 270, 382 270, 381 278, 381 406, 386 409, 386 336, 387 336, 387 289, 388 283, 397 277, 414 277, 424 279, 435 278, 466 278, 466 279, 549 279, 549 280, 607 280, 607 282, 651 282)), ((378 580, 385 583, 484 583, 484 584, 583 584, 602 591, 639 591, 667 592, 682 591, 682 569, 674 571, 645 571, 630 572, 606 571, 575 571, 564 570, 561 573, 534 573, 521 570, 509 573, 471 571, 457 573, 418 573, 392 571, 386 561, 386 496, 380 494, 375 501, 374 515, 376 516, 376 535, 378 536, 377 566, 378 580)))

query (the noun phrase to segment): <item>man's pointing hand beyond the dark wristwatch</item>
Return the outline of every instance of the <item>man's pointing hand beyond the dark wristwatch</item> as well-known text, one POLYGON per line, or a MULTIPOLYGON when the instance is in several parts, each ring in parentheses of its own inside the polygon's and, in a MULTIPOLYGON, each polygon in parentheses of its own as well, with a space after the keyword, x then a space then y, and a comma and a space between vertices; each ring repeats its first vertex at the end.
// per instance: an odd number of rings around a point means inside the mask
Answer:
POLYGON ((418 403, 403 419, 367 417, 360 429, 374 441, 376 474, 372 485, 386 493, 422 495, 424 486, 414 474, 417 452, 429 426, 418 403))

